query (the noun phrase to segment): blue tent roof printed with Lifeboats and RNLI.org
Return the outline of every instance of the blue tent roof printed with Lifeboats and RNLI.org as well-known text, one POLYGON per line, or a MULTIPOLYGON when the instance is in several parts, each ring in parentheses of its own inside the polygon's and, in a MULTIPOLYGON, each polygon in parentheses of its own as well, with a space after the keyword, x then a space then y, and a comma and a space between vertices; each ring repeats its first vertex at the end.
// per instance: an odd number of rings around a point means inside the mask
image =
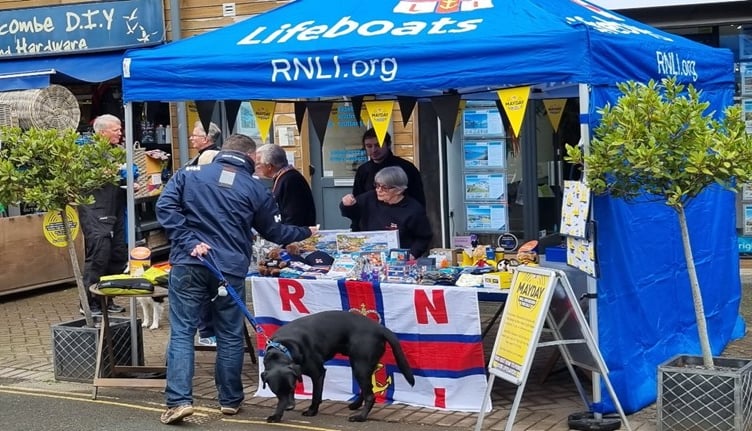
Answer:
MULTIPOLYGON (((581 0, 298 0, 123 62, 125 101, 429 97, 665 76, 733 82, 731 53, 581 0)), ((575 93, 576 94, 576 93, 575 93)), ((467 96, 466 96, 467 97, 467 96)), ((475 97, 485 97, 478 95, 475 97)))

